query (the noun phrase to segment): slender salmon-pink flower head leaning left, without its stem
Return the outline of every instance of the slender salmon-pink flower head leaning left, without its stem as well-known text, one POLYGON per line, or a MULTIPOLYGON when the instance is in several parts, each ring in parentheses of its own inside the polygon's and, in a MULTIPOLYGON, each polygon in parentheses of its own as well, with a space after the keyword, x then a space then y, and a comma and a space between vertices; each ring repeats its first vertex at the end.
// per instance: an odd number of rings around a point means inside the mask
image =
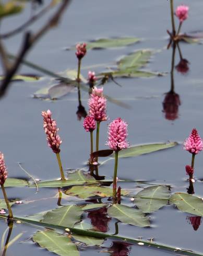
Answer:
POLYGON ((59 146, 62 144, 62 141, 57 134, 59 128, 56 127, 56 121, 52 119, 52 112, 50 110, 42 111, 42 117, 44 119, 43 127, 47 143, 54 153, 59 153, 59 146))

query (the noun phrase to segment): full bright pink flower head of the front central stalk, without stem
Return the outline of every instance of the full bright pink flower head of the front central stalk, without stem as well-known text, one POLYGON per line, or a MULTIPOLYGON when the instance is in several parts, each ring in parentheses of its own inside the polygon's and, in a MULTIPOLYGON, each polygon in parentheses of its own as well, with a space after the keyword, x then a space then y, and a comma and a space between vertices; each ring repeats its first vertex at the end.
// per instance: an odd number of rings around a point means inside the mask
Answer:
POLYGON ((127 138, 127 126, 121 118, 115 119, 109 124, 109 138, 107 145, 114 151, 118 151, 129 146, 127 138))

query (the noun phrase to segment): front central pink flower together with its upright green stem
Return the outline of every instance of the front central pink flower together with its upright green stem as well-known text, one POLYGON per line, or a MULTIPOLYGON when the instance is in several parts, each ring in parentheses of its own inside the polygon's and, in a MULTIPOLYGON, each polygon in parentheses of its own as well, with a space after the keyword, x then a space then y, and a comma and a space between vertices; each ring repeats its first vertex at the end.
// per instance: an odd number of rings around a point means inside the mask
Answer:
POLYGON ((120 150, 129 146, 127 138, 128 124, 121 118, 115 119, 109 124, 109 137, 107 145, 115 151, 115 164, 113 176, 113 204, 117 202, 116 187, 117 187, 117 167, 118 167, 118 153, 120 150))

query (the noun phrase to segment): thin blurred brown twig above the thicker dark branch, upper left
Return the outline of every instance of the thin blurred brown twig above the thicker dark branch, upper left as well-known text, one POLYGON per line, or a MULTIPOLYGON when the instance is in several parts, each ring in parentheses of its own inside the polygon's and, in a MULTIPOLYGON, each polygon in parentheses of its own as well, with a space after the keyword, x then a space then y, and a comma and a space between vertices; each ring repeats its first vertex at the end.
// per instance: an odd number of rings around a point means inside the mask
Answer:
POLYGON ((6 39, 12 36, 15 36, 15 34, 20 33, 23 29, 27 28, 30 26, 35 20, 38 20, 41 18, 49 9, 53 7, 53 3, 50 3, 48 6, 46 6, 44 9, 42 9, 38 14, 32 16, 28 21, 26 21, 24 24, 19 26, 18 28, 11 30, 7 33, 0 34, 1 39, 6 39))

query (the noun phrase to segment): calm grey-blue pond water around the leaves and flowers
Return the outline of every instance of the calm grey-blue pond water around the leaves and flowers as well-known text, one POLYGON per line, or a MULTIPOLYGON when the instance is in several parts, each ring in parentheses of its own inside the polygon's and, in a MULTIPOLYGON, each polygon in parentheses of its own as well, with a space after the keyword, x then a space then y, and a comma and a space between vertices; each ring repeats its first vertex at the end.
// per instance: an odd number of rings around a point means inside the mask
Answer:
MULTIPOLYGON (((179 3, 174 1, 175 6, 179 3)), ((189 5, 189 18, 183 24, 183 32, 193 32, 202 29, 201 0, 193 2, 185 0, 189 5)), ((14 24, 20 24, 23 18, 28 18, 30 10, 22 15, 5 19, 2 31, 9 31, 14 24)), ((37 29, 43 19, 32 26, 37 29)), ((145 67, 147 71, 164 73, 163 76, 152 78, 115 78, 116 85, 109 81, 104 85, 104 93, 114 99, 127 104, 123 108, 108 101, 109 121, 101 123, 100 148, 106 149, 108 123, 117 117, 125 119, 128 126, 128 140, 130 145, 158 142, 178 142, 174 148, 161 150, 147 155, 132 158, 121 158, 118 165, 118 177, 125 180, 145 180, 151 184, 171 185, 171 192, 187 192, 188 182, 185 175, 185 165, 190 163, 191 156, 183 150, 182 142, 190 131, 196 127, 203 136, 203 84, 202 84, 202 44, 180 43, 184 59, 187 59, 189 71, 183 75, 174 70, 174 89, 179 95, 181 105, 177 118, 166 119, 163 112, 163 101, 166 92, 171 87, 171 59, 172 49, 166 50, 168 34, 171 30, 170 3, 166 0, 121 1, 104 0, 102 2, 86 0, 73 1, 67 9, 62 22, 56 29, 46 34, 29 53, 27 60, 53 72, 66 69, 76 69, 77 59, 74 51, 65 51, 68 46, 76 42, 90 41, 98 38, 110 37, 138 37, 140 42, 123 48, 90 50, 82 59, 81 73, 87 77, 90 70, 96 73, 112 66, 122 56, 140 49, 154 51, 150 62, 145 67), (100 65, 103 64, 103 65, 100 65), (88 66, 92 66, 88 68, 88 66)), ((15 53, 18 50, 21 36, 6 40, 7 49, 15 53)), ((180 61, 176 51, 175 65, 180 61)), ((22 66, 19 73, 34 73, 44 77, 44 74, 22 66)), ((41 111, 50 109, 54 119, 60 127, 59 134, 63 139, 61 158, 65 169, 87 169, 89 157, 89 134, 82 127, 83 118, 78 120, 77 88, 59 100, 41 100, 33 98, 33 94, 40 88, 54 84, 53 78, 45 76, 39 82, 13 83, 8 94, 1 99, 1 151, 5 155, 9 177, 29 179, 19 167, 18 162, 34 178, 53 180, 58 178, 58 166, 55 156, 47 147, 45 134, 42 129, 41 111)), ((82 105, 88 111, 88 92, 81 90, 82 105)), ((203 157, 196 156, 194 184, 195 195, 201 196, 203 178, 203 157)), ((112 177, 114 161, 108 161, 100 166, 100 174, 112 177)), ((134 182, 121 182, 122 188, 136 193, 141 189, 134 182)), ((57 188, 40 188, 38 193, 32 188, 8 188, 9 199, 19 199, 23 204, 14 205, 13 212, 17 216, 31 215, 57 208, 57 188)), ((74 201, 74 198, 71 200, 74 201)), ((77 199, 75 197, 75 201, 77 199)), ((71 204, 62 201, 63 205, 71 204)), ((83 202, 83 201, 82 201, 83 202)), ((102 199, 102 202, 108 202, 102 199)), ((130 197, 123 198, 122 204, 133 206, 130 197)), ((173 205, 166 205, 155 213, 148 214, 151 227, 142 228, 118 223, 119 235, 142 239, 154 238, 154 242, 164 243, 173 247, 184 248, 203 253, 200 225, 194 230, 189 217, 193 216, 178 211, 173 205)), ((99 227, 101 231, 115 232, 114 218, 105 219, 105 213, 96 212, 95 215, 84 215, 88 223, 99 227), (95 217, 98 216, 98 217, 95 217), (102 222, 103 219, 103 222, 102 222)), ((6 230, 5 221, 0 222, 0 235, 6 230)), ((49 255, 50 252, 36 246, 31 237, 39 228, 27 224, 15 224, 11 239, 21 234, 7 250, 7 255, 49 255)), ((41 228, 42 229, 42 228, 41 228)), ((166 255, 162 250, 141 248, 107 239, 102 247, 83 247, 81 255, 166 255), (108 250, 110 252, 108 252, 108 250), (123 254, 122 254, 123 253, 123 254)))

